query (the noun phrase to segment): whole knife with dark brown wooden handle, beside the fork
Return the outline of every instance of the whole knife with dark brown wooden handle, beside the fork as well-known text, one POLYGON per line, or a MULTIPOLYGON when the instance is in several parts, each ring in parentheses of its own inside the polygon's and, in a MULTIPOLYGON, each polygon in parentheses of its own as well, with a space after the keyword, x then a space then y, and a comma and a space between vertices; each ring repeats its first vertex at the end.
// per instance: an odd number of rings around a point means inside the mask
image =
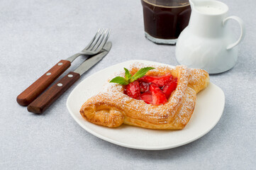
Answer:
POLYGON ((56 84, 52 85, 50 89, 45 91, 41 96, 35 99, 32 103, 28 105, 28 111, 32 113, 43 113, 47 108, 54 103, 57 98, 69 89, 88 69, 93 67, 97 62, 99 62, 103 57, 105 57, 111 50, 112 43, 106 42, 104 45, 103 52, 94 57, 89 58, 83 62, 74 72, 69 72, 65 77, 57 81, 56 84))

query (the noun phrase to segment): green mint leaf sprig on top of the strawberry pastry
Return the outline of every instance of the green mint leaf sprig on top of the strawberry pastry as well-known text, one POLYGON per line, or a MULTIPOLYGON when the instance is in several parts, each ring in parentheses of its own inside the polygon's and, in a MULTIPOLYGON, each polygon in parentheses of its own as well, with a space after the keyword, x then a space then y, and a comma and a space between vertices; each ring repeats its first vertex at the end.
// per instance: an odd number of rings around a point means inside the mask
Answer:
POLYGON ((154 67, 144 67, 140 69, 138 72, 136 72, 134 75, 130 74, 129 70, 126 68, 123 68, 126 71, 126 78, 124 77, 115 77, 109 81, 109 83, 116 83, 121 85, 127 85, 137 79, 140 79, 140 77, 143 77, 150 69, 155 69, 154 67))

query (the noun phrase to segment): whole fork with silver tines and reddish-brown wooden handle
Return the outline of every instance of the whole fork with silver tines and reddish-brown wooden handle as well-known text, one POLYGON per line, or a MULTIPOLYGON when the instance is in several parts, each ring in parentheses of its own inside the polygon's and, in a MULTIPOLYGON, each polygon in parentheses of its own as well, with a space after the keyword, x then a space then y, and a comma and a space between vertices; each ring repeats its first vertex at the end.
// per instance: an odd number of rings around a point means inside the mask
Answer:
POLYGON ((57 77, 65 72, 71 65, 71 63, 80 55, 96 55, 99 53, 104 45, 106 44, 108 37, 110 35, 110 30, 99 29, 91 42, 85 47, 81 52, 78 52, 71 57, 68 57, 66 60, 60 60, 55 66, 48 70, 43 76, 37 79, 33 84, 31 84, 26 90, 24 90, 17 97, 17 102, 21 106, 28 106, 32 101, 35 100, 40 94, 45 91, 45 89, 52 84, 57 77))

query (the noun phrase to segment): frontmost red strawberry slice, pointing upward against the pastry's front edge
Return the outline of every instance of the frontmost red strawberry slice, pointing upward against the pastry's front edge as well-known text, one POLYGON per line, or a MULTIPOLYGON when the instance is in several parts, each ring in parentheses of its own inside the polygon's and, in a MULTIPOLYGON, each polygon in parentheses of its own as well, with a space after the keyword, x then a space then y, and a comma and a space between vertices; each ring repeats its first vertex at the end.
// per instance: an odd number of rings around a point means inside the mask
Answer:
POLYGON ((159 105, 167 102, 165 94, 162 90, 157 86, 157 84, 150 84, 150 91, 152 93, 152 104, 159 105))

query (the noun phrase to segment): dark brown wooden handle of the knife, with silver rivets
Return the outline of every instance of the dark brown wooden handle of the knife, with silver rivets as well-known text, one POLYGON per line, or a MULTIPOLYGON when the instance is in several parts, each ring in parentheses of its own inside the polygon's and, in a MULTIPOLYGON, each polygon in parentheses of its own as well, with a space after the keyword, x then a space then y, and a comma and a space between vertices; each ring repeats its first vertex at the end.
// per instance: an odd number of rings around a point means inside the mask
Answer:
POLYGON ((43 113, 49 106, 54 103, 57 98, 69 89, 80 77, 80 74, 75 72, 69 72, 65 77, 60 79, 56 84, 45 91, 41 96, 35 99, 30 105, 28 105, 28 111, 32 113, 43 113))

